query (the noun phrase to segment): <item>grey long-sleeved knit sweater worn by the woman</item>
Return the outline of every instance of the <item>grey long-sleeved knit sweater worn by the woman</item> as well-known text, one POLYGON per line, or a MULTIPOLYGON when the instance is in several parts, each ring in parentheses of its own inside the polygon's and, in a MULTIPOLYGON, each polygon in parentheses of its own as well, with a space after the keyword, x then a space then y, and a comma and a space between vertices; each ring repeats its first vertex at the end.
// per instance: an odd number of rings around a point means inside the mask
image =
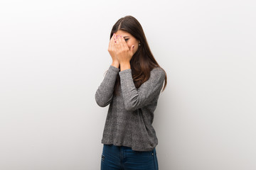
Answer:
POLYGON ((110 65, 95 94, 99 106, 110 104, 102 144, 132 147, 134 151, 151 151, 156 147, 158 140, 152 123, 164 78, 164 70, 154 68, 150 78, 137 89, 131 69, 119 72, 110 65), (113 95, 117 74, 119 96, 113 95))

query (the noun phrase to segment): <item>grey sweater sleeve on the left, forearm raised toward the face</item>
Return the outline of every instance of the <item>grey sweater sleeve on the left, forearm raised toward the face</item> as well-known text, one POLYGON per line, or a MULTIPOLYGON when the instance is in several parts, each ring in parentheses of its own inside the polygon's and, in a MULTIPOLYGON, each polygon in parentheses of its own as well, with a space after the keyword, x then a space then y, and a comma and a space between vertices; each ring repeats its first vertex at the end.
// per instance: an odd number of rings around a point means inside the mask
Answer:
POLYGON ((100 107, 105 107, 112 101, 114 83, 117 79, 119 69, 110 65, 105 77, 95 94, 95 101, 100 107))

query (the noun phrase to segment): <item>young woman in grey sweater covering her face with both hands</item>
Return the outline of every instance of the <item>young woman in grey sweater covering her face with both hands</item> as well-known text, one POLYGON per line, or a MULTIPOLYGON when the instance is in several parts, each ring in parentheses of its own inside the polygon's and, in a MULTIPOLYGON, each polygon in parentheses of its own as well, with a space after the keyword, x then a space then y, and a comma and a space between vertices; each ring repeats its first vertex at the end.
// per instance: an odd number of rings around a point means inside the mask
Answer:
POLYGON ((158 169, 158 140, 152 123, 159 94, 166 86, 166 72, 154 59, 142 26, 133 16, 114 24, 108 52, 112 64, 95 94, 99 106, 110 104, 101 169, 158 169))

